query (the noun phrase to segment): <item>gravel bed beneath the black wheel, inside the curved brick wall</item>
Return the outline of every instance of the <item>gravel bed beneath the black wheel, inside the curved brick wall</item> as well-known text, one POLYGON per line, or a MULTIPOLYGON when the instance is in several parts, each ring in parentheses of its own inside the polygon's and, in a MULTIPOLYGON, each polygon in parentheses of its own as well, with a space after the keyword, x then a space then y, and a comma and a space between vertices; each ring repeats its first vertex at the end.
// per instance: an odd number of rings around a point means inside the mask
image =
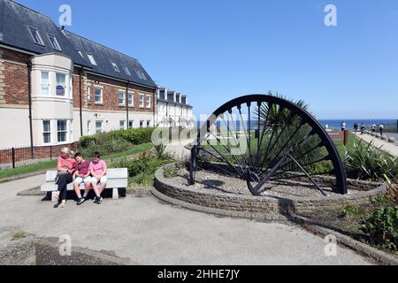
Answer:
MULTIPOLYGON (((188 186, 189 174, 186 170, 181 169, 177 172, 175 181, 178 184, 188 186)), ((195 174, 196 183, 193 187, 203 189, 213 193, 227 193, 235 195, 251 195, 245 180, 227 177, 223 174, 201 170, 195 174)), ((255 184, 254 184, 255 185, 255 184)), ((322 184, 319 184, 322 185, 322 184)), ((320 186, 328 196, 336 195, 332 187, 327 185, 320 186)), ((276 197, 317 197, 323 196, 320 191, 309 181, 300 180, 275 180, 265 185, 267 188, 263 195, 276 197)), ((356 194, 358 191, 350 190, 348 194, 356 194)))

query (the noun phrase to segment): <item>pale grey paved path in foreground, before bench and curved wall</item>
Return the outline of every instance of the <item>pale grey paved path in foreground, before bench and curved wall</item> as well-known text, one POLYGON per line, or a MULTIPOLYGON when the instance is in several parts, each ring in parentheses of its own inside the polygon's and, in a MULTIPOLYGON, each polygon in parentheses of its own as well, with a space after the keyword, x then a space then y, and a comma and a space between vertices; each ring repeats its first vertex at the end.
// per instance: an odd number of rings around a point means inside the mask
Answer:
POLYGON ((139 264, 370 264, 350 249, 325 256, 322 238, 295 226, 218 218, 133 195, 102 205, 53 209, 37 196, 17 196, 44 180, 0 184, 0 229, 43 237, 69 234, 73 245, 114 251, 139 264))

